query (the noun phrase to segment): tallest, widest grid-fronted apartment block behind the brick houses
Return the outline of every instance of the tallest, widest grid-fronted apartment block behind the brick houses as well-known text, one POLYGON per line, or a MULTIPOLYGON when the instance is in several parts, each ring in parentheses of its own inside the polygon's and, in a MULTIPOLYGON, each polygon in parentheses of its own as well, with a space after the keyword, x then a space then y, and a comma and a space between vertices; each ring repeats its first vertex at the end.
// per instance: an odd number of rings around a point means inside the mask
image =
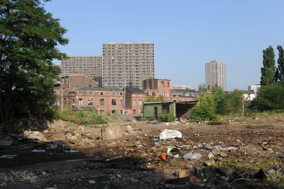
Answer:
POLYGON ((108 42, 102 44, 103 87, 142 87, 155 77, 154 43, 108 42))

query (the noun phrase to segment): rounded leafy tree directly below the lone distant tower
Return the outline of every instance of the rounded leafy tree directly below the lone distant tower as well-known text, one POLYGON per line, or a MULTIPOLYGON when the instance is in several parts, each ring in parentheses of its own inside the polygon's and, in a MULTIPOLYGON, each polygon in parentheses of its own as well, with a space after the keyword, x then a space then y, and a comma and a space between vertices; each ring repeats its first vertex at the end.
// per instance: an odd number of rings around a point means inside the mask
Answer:
POLYGON ((228 95, 225 93, 222 87, 218 87, 217 85, 212 87, 212 96, 216 105, 215 112, 217 114, 226 114, 228 95))

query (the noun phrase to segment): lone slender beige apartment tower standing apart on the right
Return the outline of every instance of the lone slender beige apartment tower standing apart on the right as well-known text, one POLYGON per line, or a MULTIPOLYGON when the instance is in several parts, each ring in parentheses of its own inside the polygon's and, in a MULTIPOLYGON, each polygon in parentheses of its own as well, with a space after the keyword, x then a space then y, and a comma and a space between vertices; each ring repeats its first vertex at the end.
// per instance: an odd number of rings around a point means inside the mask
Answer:
POLYGON ((206 87, 213 87, 216 84, 226 91, 226 63, 213 60, 205 63, 206 87))

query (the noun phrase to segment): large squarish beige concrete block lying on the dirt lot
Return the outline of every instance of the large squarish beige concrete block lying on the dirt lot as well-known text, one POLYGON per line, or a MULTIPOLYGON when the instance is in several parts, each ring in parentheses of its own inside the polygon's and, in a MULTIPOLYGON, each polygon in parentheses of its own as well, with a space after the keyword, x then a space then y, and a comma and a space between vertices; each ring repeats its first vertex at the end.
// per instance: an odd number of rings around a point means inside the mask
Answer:
POLYGON ((122 127, 120 125, 108 126, 101 129, 102 140, 114 140, 122 137, 122 127))

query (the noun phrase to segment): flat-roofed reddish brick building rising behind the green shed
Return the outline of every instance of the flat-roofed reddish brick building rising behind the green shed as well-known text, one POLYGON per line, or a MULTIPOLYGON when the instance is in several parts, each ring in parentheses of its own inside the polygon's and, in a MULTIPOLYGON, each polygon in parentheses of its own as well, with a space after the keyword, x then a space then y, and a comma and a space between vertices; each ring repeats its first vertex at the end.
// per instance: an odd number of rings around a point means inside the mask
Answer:
POLYGON ((145 79, 142 81, 142 90, 146 92, 146 96, 164 97, 166 102, 171 100, 171 88, 169 79, 145 79))

